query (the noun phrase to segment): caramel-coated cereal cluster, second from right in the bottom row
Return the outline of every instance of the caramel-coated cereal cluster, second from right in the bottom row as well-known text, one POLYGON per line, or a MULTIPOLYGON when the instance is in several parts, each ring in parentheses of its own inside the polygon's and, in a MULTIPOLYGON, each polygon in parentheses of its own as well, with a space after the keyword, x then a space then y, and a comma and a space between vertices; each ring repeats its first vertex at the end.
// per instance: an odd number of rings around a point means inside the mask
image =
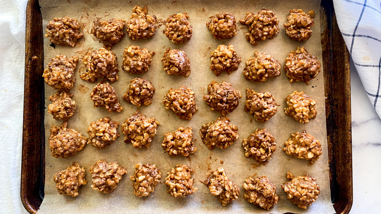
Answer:
MULTIPOLYGON (((253 176, 254 177, 254 176, 253 176)), ((249 177, 243 184, 245 194, 243 195, 249 203, 253 203, 265 210, 270 210, 278 202, 276 186, 266 175, 256 178, 249 177)))

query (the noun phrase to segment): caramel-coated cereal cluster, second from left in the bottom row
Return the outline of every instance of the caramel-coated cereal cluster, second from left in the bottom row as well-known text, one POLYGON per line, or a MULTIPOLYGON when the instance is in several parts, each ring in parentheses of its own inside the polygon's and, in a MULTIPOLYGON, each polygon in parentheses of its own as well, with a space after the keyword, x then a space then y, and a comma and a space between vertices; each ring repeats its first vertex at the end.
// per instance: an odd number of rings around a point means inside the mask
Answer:
POLYGON ((127 170, 117 162, 107 162, 107 160, 99 160, 95 165, 91 165, 90 173, 91 187, 100 193, 111 193, 117 187, 119 181, 127 170))

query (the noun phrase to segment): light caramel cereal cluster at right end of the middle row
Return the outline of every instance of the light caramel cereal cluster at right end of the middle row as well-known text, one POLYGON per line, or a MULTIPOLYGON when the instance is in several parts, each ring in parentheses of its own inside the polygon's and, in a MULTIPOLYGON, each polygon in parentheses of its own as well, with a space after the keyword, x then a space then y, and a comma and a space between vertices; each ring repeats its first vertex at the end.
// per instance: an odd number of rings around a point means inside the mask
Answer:
POLYGON ((308 123, 316 118, 316 101, 303 91, 294 91, 286 97, 287 107, 284 113, 293 117, 299 123, 308 123))

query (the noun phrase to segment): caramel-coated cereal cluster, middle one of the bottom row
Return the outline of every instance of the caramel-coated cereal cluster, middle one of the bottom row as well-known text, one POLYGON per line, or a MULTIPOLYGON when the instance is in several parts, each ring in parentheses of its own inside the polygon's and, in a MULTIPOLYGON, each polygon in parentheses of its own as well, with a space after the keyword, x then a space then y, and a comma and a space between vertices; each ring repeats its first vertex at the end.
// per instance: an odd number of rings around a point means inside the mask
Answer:
POLYGON ((177 164, 175 168, 167 172, 166 186, 167 193, 173 197, 186 197, 197 191, 193 187, 193 170, 185 164, 177 164))

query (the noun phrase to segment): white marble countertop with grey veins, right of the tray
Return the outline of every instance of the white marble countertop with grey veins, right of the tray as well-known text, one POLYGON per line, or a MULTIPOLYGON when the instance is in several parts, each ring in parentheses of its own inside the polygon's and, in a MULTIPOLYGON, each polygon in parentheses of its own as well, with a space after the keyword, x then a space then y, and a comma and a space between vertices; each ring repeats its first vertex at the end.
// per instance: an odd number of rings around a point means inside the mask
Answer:
POLYGON ((381 119, 351 61, 353 205, 350 214, 380 213, 381 119))

